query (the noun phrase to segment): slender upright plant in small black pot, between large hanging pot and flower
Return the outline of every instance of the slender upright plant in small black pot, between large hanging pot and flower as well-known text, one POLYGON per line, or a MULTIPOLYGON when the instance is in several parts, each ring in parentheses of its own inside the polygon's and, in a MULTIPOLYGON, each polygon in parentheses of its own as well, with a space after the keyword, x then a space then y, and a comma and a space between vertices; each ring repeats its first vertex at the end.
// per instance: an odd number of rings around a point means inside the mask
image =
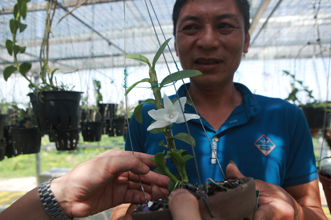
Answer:
POLYGON ((93 80, 93 85, 96 93, 96 105, 89 108, 88 102, 86 102, 86 119, 81 122, 81 135, 83 136, 84 141, 88 142, 100 141, 104 128, 104 121, 102 120, 102 115, 97 107, 99 102, 102 101, 102 95, 100 92, 101 83, 98 80, 93 80))

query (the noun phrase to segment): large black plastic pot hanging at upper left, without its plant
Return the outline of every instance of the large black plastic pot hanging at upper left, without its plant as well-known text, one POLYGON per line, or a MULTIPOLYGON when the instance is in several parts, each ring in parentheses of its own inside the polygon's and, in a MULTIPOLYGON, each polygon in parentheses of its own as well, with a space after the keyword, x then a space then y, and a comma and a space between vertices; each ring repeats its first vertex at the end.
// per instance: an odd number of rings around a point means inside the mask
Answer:
POLYGON ((68 130, 77 129, 79 122, 79 91, 43 91, 42 102, 34 93, 29 93, 34 117, 41 132, 52 129, 68 130))

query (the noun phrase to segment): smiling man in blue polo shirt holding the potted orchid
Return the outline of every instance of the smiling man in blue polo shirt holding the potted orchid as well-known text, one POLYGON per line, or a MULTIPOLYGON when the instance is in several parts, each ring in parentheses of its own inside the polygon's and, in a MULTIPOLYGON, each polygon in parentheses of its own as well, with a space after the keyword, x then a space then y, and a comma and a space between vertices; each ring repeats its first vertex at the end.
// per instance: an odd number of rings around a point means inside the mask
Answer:
MULTIPOLYGON (((256 179, 261 193, 254 219, 326 219, 312 138, 302 111, 281 99, 253 95, 244 85, 233 82, 242 54, 249 49, 249 18, 246 0, 176 1, 177 56, 184 70, 203 73, 190 78, 188 92, 181 86, 178 95, 194 102, 227 178, 245 175, 256 179), (228 165, 229 161, 236 165, 228 165)), ((156 154, 164 149, 157 145, 164 137, 147 132, 153 120, 147 114, 150 109, 153 106, 144 106, 143 124, 131 118, 131 140, 135 151, 156 154)), ((185 105, 185 113, 195 110, 185 105)), ((201 181, 223 180, 199 119, 191 119, 188 125, 197 143, 201 181)), ((175 135, 186 128, 176 124, 172 130, 175 135)), ((192 154, 190 146, 177 144, 192 154)), ((128 136, 126 149, 131 150, 128 136)), ((189 181, 199 182, 194 161, 186 164, 189 181)), ((173 163, 167 165, 176 173, 173 163)))

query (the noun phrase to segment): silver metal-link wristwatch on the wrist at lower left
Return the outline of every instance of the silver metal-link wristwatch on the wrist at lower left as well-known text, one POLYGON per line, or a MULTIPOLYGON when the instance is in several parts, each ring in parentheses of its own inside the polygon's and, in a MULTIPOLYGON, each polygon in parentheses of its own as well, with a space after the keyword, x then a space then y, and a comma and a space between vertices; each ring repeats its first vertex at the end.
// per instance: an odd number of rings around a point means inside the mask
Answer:
POLYGON ((45 207, 45 211, 52 220, 72 220, 69 218, 60 207, 57 199, 54 197, 53 192, 50 188, 50 182, 56 177, 52 177, 38 185, 38 192, 40 201, 45 207))

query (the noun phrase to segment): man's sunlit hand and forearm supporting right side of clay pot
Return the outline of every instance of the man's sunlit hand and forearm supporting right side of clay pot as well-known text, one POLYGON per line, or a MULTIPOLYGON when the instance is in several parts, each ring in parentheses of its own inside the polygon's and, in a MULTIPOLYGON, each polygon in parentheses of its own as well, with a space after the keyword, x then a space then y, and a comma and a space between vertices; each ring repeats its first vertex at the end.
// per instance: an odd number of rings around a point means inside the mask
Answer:
MULTIPOLYGON (((227 166, 227 178, 245 177, 234 163, 227 166)), ((318 189, 318 180, 282 188, 278 185, 255 180, 260 190, 258 209, 254 220, 262 219, 326 219, 318 189)))

